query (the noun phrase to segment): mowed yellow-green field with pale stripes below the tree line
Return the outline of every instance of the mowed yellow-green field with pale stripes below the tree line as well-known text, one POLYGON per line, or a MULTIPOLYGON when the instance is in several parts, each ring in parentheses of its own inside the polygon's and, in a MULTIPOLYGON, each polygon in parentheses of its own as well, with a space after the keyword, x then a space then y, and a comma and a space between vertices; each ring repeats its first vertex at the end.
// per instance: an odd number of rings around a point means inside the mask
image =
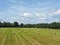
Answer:
POLYGON ((60 29, 0 28, 0 45, 60 45, 60 29))

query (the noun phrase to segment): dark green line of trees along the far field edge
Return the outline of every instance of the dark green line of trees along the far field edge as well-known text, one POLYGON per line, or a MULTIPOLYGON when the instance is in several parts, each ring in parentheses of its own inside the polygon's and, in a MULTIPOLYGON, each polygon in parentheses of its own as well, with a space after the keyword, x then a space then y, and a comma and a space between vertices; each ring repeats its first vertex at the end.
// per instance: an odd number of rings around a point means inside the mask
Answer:
POLYGON ((19 24, 18 22, 0 22, 0 27, 19 27, 19 28, 52 28, 60 29, 60 22, 38 23, 38 24, 19 24))

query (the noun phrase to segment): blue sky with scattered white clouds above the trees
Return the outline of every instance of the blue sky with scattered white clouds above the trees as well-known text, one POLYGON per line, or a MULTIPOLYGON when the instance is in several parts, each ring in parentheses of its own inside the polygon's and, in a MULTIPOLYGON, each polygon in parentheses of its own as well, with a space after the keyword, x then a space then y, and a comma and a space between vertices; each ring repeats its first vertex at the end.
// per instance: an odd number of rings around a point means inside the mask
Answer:
POLYGON ((60 22, 60 0, 0 0, 0 21, 60 22))

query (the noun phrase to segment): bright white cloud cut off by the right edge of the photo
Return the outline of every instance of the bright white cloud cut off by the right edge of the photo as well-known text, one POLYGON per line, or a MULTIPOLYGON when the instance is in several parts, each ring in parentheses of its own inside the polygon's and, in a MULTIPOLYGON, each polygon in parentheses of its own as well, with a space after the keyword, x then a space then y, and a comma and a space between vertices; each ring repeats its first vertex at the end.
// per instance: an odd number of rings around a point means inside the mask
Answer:
POLYGON ((50 18, 50 17, 53 17, 53 16, 57 16, 57 15, 60 15, 60 9, 48 9, 46 11, 46 17, 47 18, 50 18))

